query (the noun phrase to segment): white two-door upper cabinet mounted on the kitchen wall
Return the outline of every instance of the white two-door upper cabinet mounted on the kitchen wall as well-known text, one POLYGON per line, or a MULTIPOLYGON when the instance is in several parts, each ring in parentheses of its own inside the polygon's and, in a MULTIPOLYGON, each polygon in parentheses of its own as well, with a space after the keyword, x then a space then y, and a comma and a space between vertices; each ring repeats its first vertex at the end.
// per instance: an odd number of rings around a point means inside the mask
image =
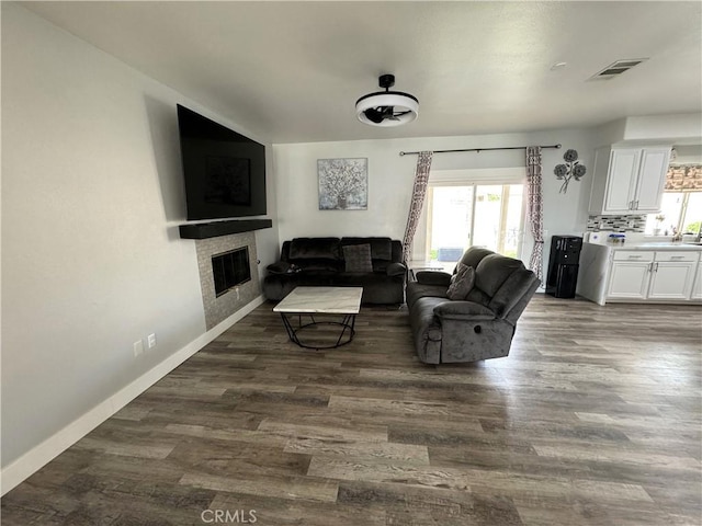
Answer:
POLYGON ((669 161, 669 146, 598 148, 590 214, 659 211, 669 161))

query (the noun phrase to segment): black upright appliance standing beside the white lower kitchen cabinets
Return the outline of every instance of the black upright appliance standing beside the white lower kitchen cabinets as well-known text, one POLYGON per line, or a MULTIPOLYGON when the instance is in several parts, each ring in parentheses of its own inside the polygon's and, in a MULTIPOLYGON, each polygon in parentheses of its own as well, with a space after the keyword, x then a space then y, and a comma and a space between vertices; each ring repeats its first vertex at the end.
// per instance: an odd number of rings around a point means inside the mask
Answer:
POLYGON ((575 298, 582 238, 553 236, 548 256, 546 294, 556 298, 575 298))

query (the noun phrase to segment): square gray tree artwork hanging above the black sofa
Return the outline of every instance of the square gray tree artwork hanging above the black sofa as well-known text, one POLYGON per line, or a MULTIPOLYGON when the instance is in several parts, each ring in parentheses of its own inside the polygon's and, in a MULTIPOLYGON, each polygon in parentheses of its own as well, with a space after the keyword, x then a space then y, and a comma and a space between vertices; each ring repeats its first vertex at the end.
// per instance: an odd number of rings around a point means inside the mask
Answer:
POLYGON ((320 210, 367 210, 369 160, 318 159, 320 210))

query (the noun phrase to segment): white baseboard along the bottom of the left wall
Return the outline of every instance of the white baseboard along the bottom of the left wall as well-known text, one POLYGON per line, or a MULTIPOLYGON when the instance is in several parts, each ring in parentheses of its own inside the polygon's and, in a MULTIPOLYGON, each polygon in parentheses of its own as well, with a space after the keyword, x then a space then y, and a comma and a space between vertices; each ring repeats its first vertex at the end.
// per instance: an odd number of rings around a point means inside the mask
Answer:
POLYGON ((265 301, 259 296, 0 471, 4 495, 265 301))

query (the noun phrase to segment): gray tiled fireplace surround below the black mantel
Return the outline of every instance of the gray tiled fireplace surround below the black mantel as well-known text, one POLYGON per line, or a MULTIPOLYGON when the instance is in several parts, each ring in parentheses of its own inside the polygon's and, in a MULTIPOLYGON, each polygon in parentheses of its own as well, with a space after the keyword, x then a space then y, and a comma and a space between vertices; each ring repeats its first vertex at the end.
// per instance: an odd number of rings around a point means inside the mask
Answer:
POLYGON ((205 324, 207 330, 210 330, 261 295, 256 236, 250 231, 230 236, 196 239, 195 250, 197 252, 197 268, 200 270, 200 288, 202 290, 202 302, 205 310, 205 324), (249 249, 251 279, 217 297, 212 270, 212 256, 242 247, 248 247, 249 249))

